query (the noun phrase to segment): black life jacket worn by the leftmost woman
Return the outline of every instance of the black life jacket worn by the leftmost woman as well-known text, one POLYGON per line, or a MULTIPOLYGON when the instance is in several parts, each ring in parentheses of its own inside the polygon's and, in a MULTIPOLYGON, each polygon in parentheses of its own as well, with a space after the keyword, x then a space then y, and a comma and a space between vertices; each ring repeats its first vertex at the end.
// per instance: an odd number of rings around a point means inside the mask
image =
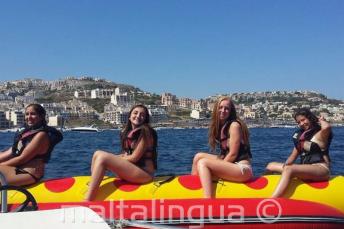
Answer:
POLYGON ((44 131, 48 134, 50 145, 48 151, 43 155, 36 155, 35 158, 42 158, 45 163, 48 163, 50 160, 51 152, 53 151, 55 145, 62 141, 63 136, 60 131, 56 130, 53 127, 42 125, 38 128, 32 129, 25 127, 20 129, 14 136, 14 142, 12 145, 12 156, 18 157, 22 154, 25 147, 31 142, 34 136, 40 131, 44 131))

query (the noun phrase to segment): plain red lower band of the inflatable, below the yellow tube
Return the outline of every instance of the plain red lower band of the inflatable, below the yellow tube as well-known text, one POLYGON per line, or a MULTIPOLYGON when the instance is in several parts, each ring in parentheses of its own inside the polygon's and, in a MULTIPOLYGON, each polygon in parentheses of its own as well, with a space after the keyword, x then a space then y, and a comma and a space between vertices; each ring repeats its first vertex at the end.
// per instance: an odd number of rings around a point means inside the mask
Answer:
POLYGON ((339 217, 344 214, 327 205, 284 198, 174 199, 40 203, 39 209, 87 206, 106 219, 198 219, 277 217, 339 217))

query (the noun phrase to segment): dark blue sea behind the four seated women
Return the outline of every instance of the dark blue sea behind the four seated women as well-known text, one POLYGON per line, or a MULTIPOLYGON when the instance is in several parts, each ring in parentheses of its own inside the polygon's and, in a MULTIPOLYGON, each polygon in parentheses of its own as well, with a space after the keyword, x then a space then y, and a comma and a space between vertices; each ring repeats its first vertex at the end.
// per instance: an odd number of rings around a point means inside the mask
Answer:
MULTIPOLYGON (((292 148, 293 128, 251 128, 250 140, 255 176, 271 161, 283 162, 292 148)), ((208 129, 159 129, 157 175, 190 173, 196 152, 208 152, 208 129)), ((344 128, 333 128, 330 148, 333 175, 344 174, 344 128)), ((64 132, 46 167, 45 179, 90 175, 92 154, 97 149, 118 153, 119 130, 82 133, 64 132)), ((11 146, 14 133, 0 133, 0 149, 11 146)), ((110 173, 109 173, 110 174, 110 173)))

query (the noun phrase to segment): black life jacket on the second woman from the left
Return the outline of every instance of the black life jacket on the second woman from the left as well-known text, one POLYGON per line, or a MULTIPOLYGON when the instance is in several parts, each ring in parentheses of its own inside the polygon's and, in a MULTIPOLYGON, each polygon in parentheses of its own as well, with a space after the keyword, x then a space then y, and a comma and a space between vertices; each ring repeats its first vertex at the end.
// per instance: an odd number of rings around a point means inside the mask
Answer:
MULTIPOLYGON (((142 157, 135 163, 136 165, 140 167, 145 166, 145 160, 151 159, 153 161, 154 169, 158 168, 157 163, 157 142, 158 142, 158 136, 154 129, 149 128, 149 131, 153 137, 153 145, 152 147, 149 147, 145 150, 142 157)), ((140 140, 142 135, 142 127, 135 128, 131 130, 127 136, 124 137, 124 145, 123 145, 123 151, 128 153, 129 155, 134 152, 138 145, 138 141, 140 140)))

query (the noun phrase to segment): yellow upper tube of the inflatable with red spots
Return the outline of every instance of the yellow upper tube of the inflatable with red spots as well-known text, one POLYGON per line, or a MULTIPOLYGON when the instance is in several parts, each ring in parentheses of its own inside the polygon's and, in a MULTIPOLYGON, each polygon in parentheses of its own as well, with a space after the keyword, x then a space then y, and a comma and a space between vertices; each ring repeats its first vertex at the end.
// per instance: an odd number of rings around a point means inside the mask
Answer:
MULTIPOLYGON (((38 203, 81 202, 89 180, 89 176, 52 179, 40 182, 27 190, 38 203)), ((261 176, 246 183, 219 180, 214 182, 216 198, 269 198, 278 180, 279 175, 261 176)), ((284 197, 329 205, 344 213, 343 190, 343 176, 335 176, 323 182, 293 179, 284 197)), ((15 191, 10 191, 8 198, 9 203, 22 201, 15 191)), ((101 183, 96 201, 195 198, 202 198, 202 187, 197 176, 162 176, 143 185, 106 177, 101 183)))

